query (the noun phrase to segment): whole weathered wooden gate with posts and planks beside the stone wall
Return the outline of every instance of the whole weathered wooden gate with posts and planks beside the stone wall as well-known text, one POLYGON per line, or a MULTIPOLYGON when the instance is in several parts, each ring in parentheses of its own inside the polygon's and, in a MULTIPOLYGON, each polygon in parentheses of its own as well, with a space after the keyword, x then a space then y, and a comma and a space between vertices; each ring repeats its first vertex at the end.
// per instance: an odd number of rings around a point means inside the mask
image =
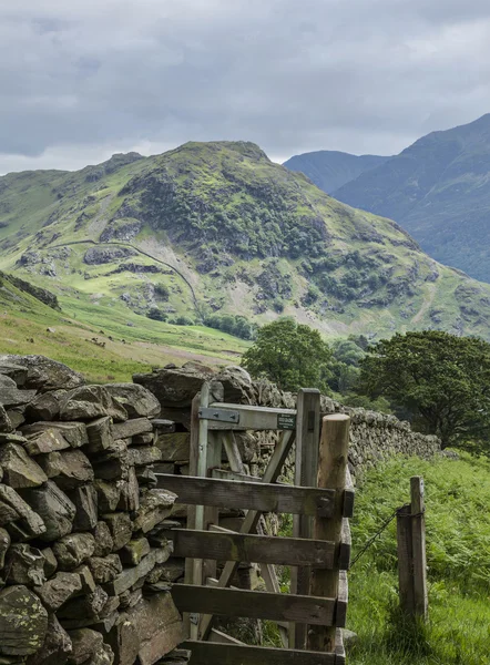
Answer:
POLYGON ((167 534, 174 555, 186 560, 185 583, 174 584, 172 596, 187 624, 191 638, 184 646, 192 651, 191 665, 345 663, 340 628, 347 612, 354 490, 347 468, 348 418, 327 418, 320 438, 318 390, 300 390, 297 410, 210 403, 207 385, 194 399, 191 475, 157 474, 159 487, 188 505, 187 529, 167 534), (341 424, 340 436, 334 434, 337 441, 326 440, 327 418, 334 428, 341 424), (246 430, 280 432, 262 478, 247 474, 235 441, 234 431, 246 430), (294 443, 295 484, 279 483, 294 443), (239 532, 218 525, 220 509, 247 511, 239 532), (263 515, 270 512, 293 514, 293 538, 266 535, 263 515), (220 575, 218 561, 226 562, 220 575), (231 586, 241 562, 261 564, 267 591, 231 586), (274 564, 290 566, 289 593, 280 593, 274 564), (213 627, 215 615, 274 621, 283 648, 238 642, 213 627))

